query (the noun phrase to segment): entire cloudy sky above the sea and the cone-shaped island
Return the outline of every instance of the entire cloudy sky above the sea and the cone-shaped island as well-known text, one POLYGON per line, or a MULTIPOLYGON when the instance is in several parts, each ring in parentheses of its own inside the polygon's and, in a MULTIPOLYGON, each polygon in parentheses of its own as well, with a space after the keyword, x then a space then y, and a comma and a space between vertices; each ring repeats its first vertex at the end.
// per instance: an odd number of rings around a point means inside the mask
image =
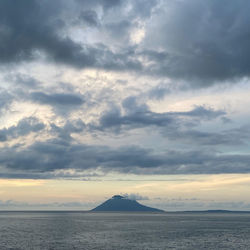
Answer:
POLYGON ((1 0, 0 210, 249 210, 247 0, 1 0))

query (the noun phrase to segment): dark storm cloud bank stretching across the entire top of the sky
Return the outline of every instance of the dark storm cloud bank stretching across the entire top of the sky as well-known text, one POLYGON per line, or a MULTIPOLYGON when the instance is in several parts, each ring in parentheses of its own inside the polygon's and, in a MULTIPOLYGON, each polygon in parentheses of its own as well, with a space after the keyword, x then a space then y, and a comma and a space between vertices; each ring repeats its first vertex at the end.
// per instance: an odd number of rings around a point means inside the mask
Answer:
POLYGON ((42 52, 56 63, 77 68, 193 79, 190 84, 199 86, 248 77, 249 7, 246 0, 3 0, 0 61, 31 60, 42 52), (102 20, 97 15, 100 8, 104 10, 102 20), (107 21, 110 11, 119 11, 119 20, 107 21), (103 45, 76 42, 69 30, 78 17, 90 27, 106 27, 111 38, 122 44, 111 50, 115 44, 109 39, 103 45), (140 21, 147 23, 145 39, 129 47, 124 39, 140 21))

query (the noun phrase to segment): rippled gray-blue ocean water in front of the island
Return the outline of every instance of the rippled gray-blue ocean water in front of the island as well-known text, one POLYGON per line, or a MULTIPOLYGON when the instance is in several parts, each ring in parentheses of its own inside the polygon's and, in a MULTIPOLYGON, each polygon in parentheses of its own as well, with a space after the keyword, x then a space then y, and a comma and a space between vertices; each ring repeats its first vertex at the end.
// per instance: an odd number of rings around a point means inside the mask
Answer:
POLYGON ((250 249, 250 214, 0 212, 0 249, 250 249))

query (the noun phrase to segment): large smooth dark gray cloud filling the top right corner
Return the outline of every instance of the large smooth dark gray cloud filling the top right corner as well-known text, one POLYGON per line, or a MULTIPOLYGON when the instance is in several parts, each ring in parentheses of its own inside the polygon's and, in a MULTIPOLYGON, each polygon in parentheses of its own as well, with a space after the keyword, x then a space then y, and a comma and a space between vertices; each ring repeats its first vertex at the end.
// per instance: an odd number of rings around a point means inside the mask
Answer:
POLYGON ((166 2, 148 30, 146 40, 158 48, 144 51, 148 70, 200 85, 249 76, 249 7, 246 0, 166 2))

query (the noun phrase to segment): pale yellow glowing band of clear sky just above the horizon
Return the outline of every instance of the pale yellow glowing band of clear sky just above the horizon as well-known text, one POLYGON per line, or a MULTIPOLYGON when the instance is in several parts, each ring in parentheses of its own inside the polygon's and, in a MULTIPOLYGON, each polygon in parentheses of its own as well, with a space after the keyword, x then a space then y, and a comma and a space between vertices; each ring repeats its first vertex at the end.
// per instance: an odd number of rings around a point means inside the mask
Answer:
POLYGON ((68 204, 70 208, 84 210, 114 194, 125 193, 147 197, 139 202, 158 205, 166 211, 187 207, 197 210, 197 203, 202 209, 209 209, 213 204, 225 209, 225 204, 230 205, 230 201, 234 201, 234 206, 236 202, 243 206, 235 209, 250 207, 250 175, 246 174, 142 176, 130 180, 109 177, 92 181, 1 179, 0 185, 2 202, 12 201, 4 209, 42 209, 44 204, 47 209, 68 209, 68 204), (55 202, 58 204, 53 205, 55 202), (70 206, 74 202, 80 204, 70 206))

